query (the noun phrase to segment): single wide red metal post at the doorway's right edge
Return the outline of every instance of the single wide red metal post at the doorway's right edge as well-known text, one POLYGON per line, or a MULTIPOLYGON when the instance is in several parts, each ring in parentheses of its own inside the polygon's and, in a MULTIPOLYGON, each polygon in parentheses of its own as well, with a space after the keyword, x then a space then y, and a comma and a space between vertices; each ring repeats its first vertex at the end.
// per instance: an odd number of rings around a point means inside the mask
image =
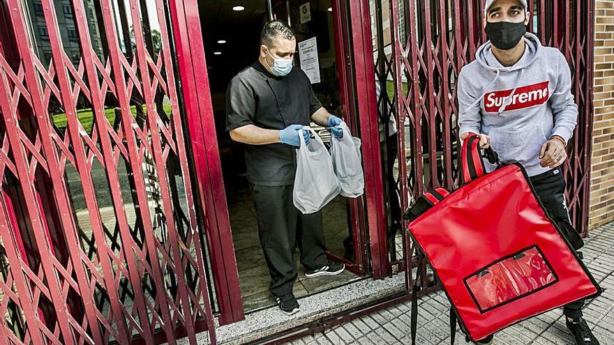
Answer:
POLYGON ((365 170, 365 194, 368 231, 370 235, 371 265, 373 277, 380 279, 391 273, 388 260, 386 217, 380 157, 380 132, 375 102, 375 70, 372 49, 371 26, 368 20, 368 0, 350 1, 352 48, 356 100, 359 109, 362 151, 365 170))

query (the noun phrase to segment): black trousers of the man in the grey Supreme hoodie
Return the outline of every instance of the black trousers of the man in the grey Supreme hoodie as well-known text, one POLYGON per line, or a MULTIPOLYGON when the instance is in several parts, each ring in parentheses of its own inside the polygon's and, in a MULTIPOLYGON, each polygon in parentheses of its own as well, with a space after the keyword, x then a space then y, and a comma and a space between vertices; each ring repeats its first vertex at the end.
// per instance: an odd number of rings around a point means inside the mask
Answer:
MULTIPOLYGON (((563 178, 562 169, 555 168, 546 171, 544 174, 532 176, 530 179, 539 199, 541 199, 546 210, 548 210, 555 220, 569 222, 569 224, 571 224, 567 203, 564 197, 565 180, 563 178)), ((584 300, 578 300, 564 305, 563 314, 569 318, 576 319, 582 316, 583 305, 584 300)))

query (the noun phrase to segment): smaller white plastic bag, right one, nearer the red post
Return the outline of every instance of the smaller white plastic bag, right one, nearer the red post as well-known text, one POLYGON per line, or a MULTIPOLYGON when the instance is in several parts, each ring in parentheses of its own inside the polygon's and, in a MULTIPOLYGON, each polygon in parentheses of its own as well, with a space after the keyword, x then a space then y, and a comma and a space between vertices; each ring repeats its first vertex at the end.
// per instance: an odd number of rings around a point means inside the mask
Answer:
POLYGON ((341 195, 348 198, 360 197, 364 193, 364 174, 360 155, 361 140, 352 137, 345 122, 339 127, 343 137, 331 138, 333 168, 341 185, 341 195))

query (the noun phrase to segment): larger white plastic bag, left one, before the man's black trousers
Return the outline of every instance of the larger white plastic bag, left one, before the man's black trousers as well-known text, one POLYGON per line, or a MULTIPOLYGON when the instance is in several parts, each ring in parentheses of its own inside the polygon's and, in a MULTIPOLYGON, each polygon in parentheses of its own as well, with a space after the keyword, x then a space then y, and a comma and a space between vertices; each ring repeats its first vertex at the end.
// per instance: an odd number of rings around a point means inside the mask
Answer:
POLYGON ((336 197, 341 187, 333 171, 331 155, 326 146, 309 126, 314 139, 305 144, 303 133, 299 133, 301 147, 297 148, 297 176, 294 177, 292 199, 303 214, 316 213, 336 197))

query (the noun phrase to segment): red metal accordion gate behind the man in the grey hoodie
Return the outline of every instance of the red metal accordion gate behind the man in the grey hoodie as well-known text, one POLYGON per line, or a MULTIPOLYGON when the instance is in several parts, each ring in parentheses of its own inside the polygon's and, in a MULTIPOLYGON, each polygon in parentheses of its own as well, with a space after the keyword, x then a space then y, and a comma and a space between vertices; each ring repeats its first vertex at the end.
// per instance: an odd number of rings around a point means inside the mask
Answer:
MULTIPOLYGON (((486 40, 482 25, 484 0, 371 2, 372 26, 377 26, 375 72, 382 87, 378 99, 380 121, 387 123, 389 116, 396 116, 398 132, 403 133, 398 135, 396 192, 402 209, 407 209, 410 200, 426 190, 454 188, 458 170, 456 77, 486 40), (384 27, 386 19, 390 21, 389 29, 384 27)), ((586 233, 594 4, 580 0, 529 3, 529 31, 536 33, 544 45, 559 48, 571 67, 579 116, 568 145, 564 174, 571 220, 578 231, 586 233)), ((390 193, 394 195, 394 191, 390 193)), ((407 238, 403 242, 407 243, 407 238)))

